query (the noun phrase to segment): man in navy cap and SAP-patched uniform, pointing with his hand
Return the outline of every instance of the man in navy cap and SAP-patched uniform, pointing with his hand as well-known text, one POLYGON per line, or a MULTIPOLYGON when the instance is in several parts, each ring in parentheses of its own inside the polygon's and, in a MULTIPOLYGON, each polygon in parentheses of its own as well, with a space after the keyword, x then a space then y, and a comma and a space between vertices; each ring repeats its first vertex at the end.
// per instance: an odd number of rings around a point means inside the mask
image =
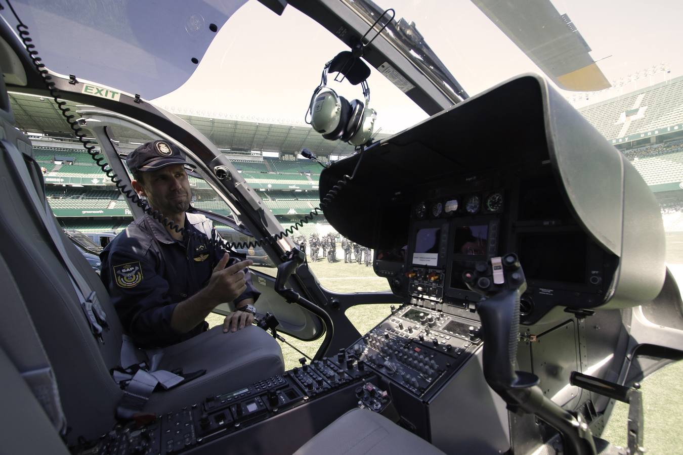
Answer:
POLYGON ((204 332, 211 310, 229 301, 239 310, 225 317, 223 332, 251 324, 259 295, 247 269, 253 262, 211 244, 208 237, 220 238, 211 221, 187 212, 188 163, 178 147, 151 141, 131 152, 126 164, 139 196, 186 230, 178 233, 145 215, 100 254, 102 282, 126 332, 139 347, 175 344, 204 332))

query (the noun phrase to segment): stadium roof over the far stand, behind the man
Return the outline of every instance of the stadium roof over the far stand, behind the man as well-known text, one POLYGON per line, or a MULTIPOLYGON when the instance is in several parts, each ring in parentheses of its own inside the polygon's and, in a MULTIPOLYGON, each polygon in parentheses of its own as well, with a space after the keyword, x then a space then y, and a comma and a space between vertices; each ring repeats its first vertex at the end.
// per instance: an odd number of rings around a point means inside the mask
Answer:
MULTIPOLYGON (((64 101, 74 113, 82 108, 92 107, 64 101)), ((20 130, 55 138, 74 138, 68 124, 59 113, 57 104, 51 98, 10 92, 10 102, 16 126, 20 130)), ((227 153, 248 155, 251 151, 277 151, 281 154, 291 154, 298 153, 306 147, 318 156, 346 156, 354 151, 353 145, 342 141, 328 141, 307 125, 176 115, 227 153)), ((380 133, 376 135, 376 138, 381 139, 387 136, 389 134, 380 133)), ((136 136, 133 130, 120 132, 116 139, 121 143, 145 141, 141 135, 136 136)))

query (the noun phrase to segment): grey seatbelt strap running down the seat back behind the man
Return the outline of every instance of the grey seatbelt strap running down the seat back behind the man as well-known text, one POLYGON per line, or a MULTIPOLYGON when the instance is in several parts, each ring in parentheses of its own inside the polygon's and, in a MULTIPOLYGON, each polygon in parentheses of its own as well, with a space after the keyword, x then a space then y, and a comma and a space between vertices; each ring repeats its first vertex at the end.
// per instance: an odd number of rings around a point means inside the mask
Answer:
POLYGON ((85 318, 88 321, 92 333, 104 343, 104 338, 102 338, 102 332, 104 328, 109 327, 107 325, 107 314, 104 313, 97 295, 92 289, 90 289, 89 284, 72 263, 66 250, 64 249, 64 244, 62 243, 62 237, 59 236, 57 231, 57 226, 53 220, 52 209, 50 205, 45 200, 44 203, 41 201, 40 196, 38 196, 38 191, 36 186, 33 184, 33 179, 26 166, 26 160, 24 158, 25 154, 18 151, 16 147, 8 142, 1 141, 3 149, 10 156, 10 162, 14 165, 14 171, 16 175, 20 177, 20 181, 25 192, 29 195, 33 205, 33 210, 38 214, 38 218, 42 221, 44 228, 46 229, 48 235, 50 235, 52 242, 57 248, 57 252, 61 257, 61 261, 66 266, 66 271, 69 274, 70 280, 76 291, 76 295, 79 297, 79 302, 81 303, 81 309, 85 318))

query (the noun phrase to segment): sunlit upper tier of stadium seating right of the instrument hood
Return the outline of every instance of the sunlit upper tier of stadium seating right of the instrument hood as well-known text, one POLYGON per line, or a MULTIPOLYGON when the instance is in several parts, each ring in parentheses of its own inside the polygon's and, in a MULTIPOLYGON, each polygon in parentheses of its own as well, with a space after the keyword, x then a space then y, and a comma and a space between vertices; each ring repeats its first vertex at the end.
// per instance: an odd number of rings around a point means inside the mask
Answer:
POLYGON ((683 131, 683 76, 579 108, 613 144, 683 131))

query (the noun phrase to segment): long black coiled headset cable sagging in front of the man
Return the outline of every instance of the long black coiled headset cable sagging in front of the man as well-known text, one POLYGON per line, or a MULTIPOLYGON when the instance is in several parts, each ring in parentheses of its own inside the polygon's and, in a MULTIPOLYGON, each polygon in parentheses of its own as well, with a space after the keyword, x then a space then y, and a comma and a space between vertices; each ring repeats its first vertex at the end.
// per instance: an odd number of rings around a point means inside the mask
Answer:
POLYGON ((76 136, 76 138, 78 138, 79 142, 81 142, 90 158, 94 160, 96 165, 102 170, 104 174, 107 175, 107 177, 109 177, 111 182, 116 186, 117 190, 124 194, 124 196, 126 196, 127 199, 129 199, 132 203, 136 204, 138 207, 143 209, 145 214, 148 214, 149 216, 154 218, 154 220, 157 220, 166 228, 176 231, 176 233, 182 233, 183 236, 189 235, 200 241, 203 240, 204 237, 206 237, 208 239, 209 244, 212 247, 218 247, 224 251, 235 250, 237 248, 249 250, 249 248, 260 247, 264 244, 272 246, 283 237, 289 237, 294 233, 294 231, 298 231, 298 229, 303 227, 304 224, 311 222, 311 220, 319 216, 320 211, 324 210, 326 207, 329 207, 329 205, 334 201, 337 194, 339 194, 339 191, 341 191, 342 188, 344 188, 344 186, 346 186, 350 181, 354 179, 356 172, 358 171, 359 164, 361 164, 361 160, 363 158, 363 155, 365 154, 363 153, 363 151, 365 150, 364 147, 358 148, 359 153, 361 153, 361 156, 359 157, 359 160, 356 164, 356 167, 354 168, 352 175, 342 176, 342 178, 337 181, 337 183, 327 192, 327 194, 325 194, 318 207, 313 208, 313 210, 311 210, 309 214, 305 215, 303 218, 299 219, 294 224, 292 224, 292 226, 289 226, 287 229, 285 229, 284 231, 280 231, 277 234, 268 235, 266 237, 263 237, 262 239, 255 239, 253 241, 230 242, 221 238, 220 236, 217 239, 212 239, 207 237, 203 233, 197 233, 195 231, 185 229, 184 227, 173 222, 172 220, 169 220, 169 218, 165 217, 160 211, 152 209, 152 207, 150 207, 147 201, 141 199, 141 197, 137 194, 137 192, 135 192, 135 190, 133 190, 133 188, 130 188, 128 185, 124 183, 123 179, 118 177, 118 175, 113 171, 111 166, 109 166, 109 164, 104 160, 102 154, 99 151, 95 150, 94 145, 96 143, 85 138, 85 133, 83 132, 83 129, 79 125, 78 121, 75 119, 76 116, 70 113, 71 109, 66 106, 65 101, 59 100, 59 89, 57 88, 57 85, 53 82, 52 76, 49 74, 45 64, 42 63, 42 59, 38 57, 38 50, 36 50, 36 46, 32 44, 33 39, 29 35, 29 29, 27 25, 25 25, 25 23, 23 23, 19 16, 16 14, 16 12, 14 11, 14 7, 12 6, 12 3, 10 3, 10 0, 6 1, 8 3, 8 6, 10 7, 10 10, 12 10, 12 14, 14 14, 14 18, 16 18, 16 21, 18 23, 16 29, 18 31, 19 38, 21 42, 23 42, 27 52, 29 53, 29 57, 31 57, 33 65, 36 67, 38 74, 40 74, 40 77, 42 78, 45 87, 50 92, 50 96, 53 98, 53 100, 55 100, 55 103, 57 104, 57 108, 59 108, 61 115, 64 117, 64 119, 66 119, 71 130, 74 132, 74 135, 76 136))

